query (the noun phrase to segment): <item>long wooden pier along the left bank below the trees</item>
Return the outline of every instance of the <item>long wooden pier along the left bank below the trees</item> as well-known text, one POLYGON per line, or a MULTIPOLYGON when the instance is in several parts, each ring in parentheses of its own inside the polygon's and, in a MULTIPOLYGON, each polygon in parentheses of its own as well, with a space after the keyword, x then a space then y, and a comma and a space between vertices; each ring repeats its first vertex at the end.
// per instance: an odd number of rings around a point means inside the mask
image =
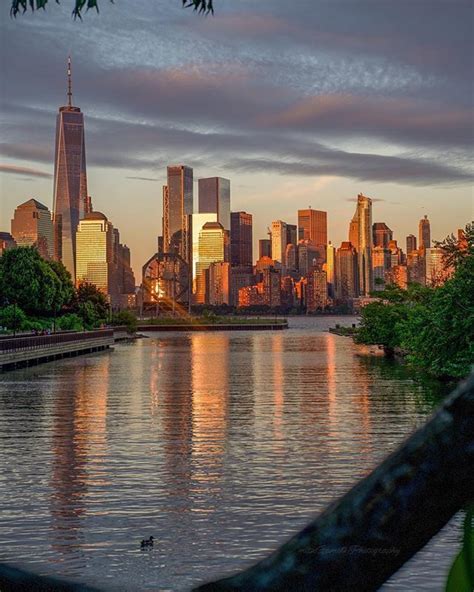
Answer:
POLYGON ((20 366, 32 366, 101 351, 113 344, 113 329, 1 339, 0 370, 11 370, 20 366))

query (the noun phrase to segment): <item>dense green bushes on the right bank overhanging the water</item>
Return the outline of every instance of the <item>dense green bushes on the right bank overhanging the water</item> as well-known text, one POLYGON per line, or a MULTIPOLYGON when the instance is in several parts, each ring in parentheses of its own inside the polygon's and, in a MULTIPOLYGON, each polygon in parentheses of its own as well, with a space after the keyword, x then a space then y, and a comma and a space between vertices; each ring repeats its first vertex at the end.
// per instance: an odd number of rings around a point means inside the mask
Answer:
POLYGON ((431 289, 389 286, 365 306, 356 340, 400 348, 439 378, 462 378, 474 361, 474 256, 460 258, 451 279, 431 289))

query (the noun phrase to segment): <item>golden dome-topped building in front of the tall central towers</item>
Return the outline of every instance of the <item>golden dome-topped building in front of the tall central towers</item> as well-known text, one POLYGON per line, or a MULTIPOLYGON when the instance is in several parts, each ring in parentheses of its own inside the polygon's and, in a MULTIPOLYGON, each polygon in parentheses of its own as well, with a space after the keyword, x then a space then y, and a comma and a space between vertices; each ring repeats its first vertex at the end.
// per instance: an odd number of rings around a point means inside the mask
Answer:
POLYGON ((228 234, 219 222, 206 222, 199 233, 198 261, 196 265, 196 303, 208 301, 209 266, 226 261, 228 234))

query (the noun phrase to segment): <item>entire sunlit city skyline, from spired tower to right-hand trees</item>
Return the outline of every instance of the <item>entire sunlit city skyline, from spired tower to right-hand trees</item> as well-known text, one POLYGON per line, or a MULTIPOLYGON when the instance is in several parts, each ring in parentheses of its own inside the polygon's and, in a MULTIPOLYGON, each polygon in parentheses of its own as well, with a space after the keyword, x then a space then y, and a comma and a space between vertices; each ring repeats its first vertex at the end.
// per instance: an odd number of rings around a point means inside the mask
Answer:
POLYGON ((431 247, 427 216, 418 243, 409 235, 404 252, 385 222, 372 221, 372 200, 362 194, 339 247, 328 241, 327 212, 309 207, 298 210, 296 224, 271 222, 255 262, 252 214, 231 211, 230 181, 199 179, 195 211, 193 169, 179 164, 167 168, 162 234, 136 288, 129 248, 88 194, 84 116, 73 105, 70 61, 67 97, 56 122, 53 210, 35 199, 20 204, 11 233, 0 233, 0 254, 34 245, 43 257, 62 261, 76 284, 95 284, 113 306, 151 311, 191 305, 314 311, 362 304, 387 283, 433 285, 449 274, 441 251, 431 247))

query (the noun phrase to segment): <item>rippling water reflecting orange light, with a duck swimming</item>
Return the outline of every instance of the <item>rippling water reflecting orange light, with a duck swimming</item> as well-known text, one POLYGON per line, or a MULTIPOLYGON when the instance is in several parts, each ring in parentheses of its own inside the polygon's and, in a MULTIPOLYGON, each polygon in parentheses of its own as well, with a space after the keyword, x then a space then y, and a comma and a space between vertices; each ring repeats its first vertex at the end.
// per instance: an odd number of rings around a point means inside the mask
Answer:
MULTIPOLYGON (((443 392, 325 332, 150 334, 0 376, 0 561, 189 590, 284 542, 443 392), (153 550, 141 551, 153 535, 153 550)), ((459 518, 384 590, 441 590, 459 518)))

